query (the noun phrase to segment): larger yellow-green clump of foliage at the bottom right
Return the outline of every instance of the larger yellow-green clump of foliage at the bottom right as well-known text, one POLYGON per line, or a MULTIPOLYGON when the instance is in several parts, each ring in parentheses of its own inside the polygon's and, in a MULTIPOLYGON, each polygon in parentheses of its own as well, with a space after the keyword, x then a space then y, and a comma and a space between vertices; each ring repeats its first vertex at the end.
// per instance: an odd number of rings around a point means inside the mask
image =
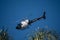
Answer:
POLYGON ((29 37, 29 40, 59 40, 60 38, 55 31, 45 29, 39 29, 33 35, 29 37))

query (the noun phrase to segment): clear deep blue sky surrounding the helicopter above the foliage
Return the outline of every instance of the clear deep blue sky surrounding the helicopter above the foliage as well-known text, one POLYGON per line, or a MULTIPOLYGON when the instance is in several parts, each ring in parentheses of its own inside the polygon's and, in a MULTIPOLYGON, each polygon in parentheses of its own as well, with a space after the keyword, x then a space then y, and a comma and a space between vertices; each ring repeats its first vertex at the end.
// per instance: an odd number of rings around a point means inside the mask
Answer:
POLYGON ((60 0, 0 0, 0 26, 7 26, 14 40, 27 40, 37 27, 55 29, 60 32, 60 0), (40 20, 25 30, 16 30, 16 25, 24 18, 34 19, 46 11, 46 20, 40 20), (18 22, 16 22, 18 21, 18 22))

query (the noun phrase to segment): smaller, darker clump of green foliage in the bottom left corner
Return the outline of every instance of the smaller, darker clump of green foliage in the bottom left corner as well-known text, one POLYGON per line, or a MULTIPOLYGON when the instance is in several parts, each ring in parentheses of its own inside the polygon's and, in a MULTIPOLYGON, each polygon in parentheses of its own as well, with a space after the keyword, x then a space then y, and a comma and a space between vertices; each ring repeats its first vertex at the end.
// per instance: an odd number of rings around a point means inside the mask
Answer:
POLYGON ((0 29, 0 40, 11 40, 7 30, 4 27, 0 29))

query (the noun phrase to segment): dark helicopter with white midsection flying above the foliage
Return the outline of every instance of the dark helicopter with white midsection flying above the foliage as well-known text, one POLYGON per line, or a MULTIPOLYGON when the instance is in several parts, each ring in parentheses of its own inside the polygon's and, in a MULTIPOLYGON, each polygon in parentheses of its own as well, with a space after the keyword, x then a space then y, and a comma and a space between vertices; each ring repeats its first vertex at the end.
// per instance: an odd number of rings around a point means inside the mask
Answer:
POLYGON ((40 20, 40 19, 46 19, 46 16, 45 16, 46 12, 44 11, 43 12, 43 15, 39 18, 35 18, 33 20, 29 20, 29 19, 25 19, 24 21, 21 21, 17 26, 16 26, 16 29, 25 29, 27 28, 29 25, 31 25, 32 23, 40 20))

